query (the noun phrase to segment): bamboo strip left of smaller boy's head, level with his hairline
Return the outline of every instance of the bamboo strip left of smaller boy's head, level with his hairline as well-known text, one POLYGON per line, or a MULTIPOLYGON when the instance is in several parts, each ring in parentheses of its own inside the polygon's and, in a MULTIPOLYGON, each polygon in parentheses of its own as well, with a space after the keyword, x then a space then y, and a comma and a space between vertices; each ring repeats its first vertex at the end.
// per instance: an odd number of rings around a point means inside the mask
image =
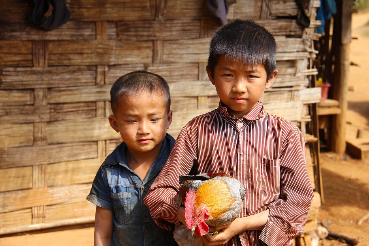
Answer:
POLYGON ((49 103, 108 101, 110 88, 111 85, 54 88, 49 90, 49 103))

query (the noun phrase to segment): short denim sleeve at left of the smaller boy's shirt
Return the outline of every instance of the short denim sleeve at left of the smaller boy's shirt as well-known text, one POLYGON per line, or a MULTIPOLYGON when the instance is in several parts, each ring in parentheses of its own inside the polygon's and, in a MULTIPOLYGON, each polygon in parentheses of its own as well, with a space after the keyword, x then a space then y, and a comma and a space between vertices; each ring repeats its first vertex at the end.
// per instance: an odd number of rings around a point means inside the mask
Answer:
POLYGON ((92 183, 90 194, 87 196, 86 199, 101 208, 113 210, 113 202, 110 195, 110 189, 108 182, 104 177, 103 167, 100 167, 99 171, 97 171, 92 183))

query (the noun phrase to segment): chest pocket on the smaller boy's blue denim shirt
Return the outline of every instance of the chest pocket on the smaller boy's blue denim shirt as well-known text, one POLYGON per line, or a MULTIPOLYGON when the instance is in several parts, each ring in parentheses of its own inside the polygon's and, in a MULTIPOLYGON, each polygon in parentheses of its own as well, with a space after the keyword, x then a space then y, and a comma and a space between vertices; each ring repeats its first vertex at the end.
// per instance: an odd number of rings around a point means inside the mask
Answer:
POLYGON ((115 216, 120 223, 131 219, 131 193, 118 192, 110 193, 113 199, 113 208, 115 216))

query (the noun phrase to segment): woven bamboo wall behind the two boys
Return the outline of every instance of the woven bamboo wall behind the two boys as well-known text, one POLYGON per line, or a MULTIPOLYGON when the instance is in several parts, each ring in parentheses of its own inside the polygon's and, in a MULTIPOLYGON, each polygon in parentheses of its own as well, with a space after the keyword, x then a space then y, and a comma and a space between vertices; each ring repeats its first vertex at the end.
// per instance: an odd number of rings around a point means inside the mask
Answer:
MULTIPOLYGON (((311 0, 311 18, 319 0, 311 0)), ((110 128, 109 89, 145 69, 170 84, 177 136, 218 106, 205 66, 217 30, 199 0, 67 0, 68 23, 31 25, 26 0, 0 0, 0 234, 93 222, 86 201, 103 159, 121 141, 110 128)), ((303 128, 315 55, 316 21, 302 28, 294 0, 237 0, 228 19, 253 19, 276 36, 279 75, 266 110, 303 128), (279 18, 277 18, 279 17, 279 18), (285 18, 284 18, 285 17, 285 18)))

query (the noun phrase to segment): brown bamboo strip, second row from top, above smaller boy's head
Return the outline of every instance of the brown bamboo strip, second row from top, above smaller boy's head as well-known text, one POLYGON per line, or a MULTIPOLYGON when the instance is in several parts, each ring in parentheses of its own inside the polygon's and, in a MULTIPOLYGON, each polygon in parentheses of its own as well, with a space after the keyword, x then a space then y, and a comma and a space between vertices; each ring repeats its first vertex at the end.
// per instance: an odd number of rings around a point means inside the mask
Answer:
POLYGON ((199 38, 200 20, 117 22, 117 40, 178 40, 199 38))

